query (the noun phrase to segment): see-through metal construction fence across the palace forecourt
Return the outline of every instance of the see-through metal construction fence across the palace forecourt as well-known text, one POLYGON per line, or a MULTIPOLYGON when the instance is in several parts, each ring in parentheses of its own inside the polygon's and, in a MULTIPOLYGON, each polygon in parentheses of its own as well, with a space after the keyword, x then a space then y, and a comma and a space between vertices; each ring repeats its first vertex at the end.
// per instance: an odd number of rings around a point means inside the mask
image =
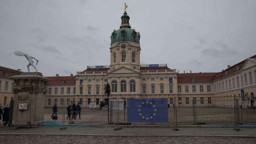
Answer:
MULTIPOLYGON (((254 100, 253 98, 251 98, 254 100)), ((19 99, 18 99, 19 100, 19 99)), ((25 100, 25 99, 21 99, 25 100)), ((28 99, 26 99, 28 100, 28 99)), ((119 127, 121 124, 130 126, 171 126, 171 127, 256 127, 256 109, 254 102, 249 107, 244 104, 241 97, 169 97, 168 123, 135 123, 127 122, 127 101, 126 98, 44 98, 43 107, 33 107, 42 110, 43 122, 53 120, 55 116, 53 106, 57 106, 58 127, 77 124, 91 127, 119 127), (52 101, 54 99, 54 101, 52 101), (102 101, 100 101, 102 100, 102 101), (74 107, 80 105, 81 110, 74 107)), ((31 107, 32 108, 32 107, 31 107)), ((30 111, 28 108, 27 111, 30 111)), ((21 127, 16 124, 16 114, 22 111, 14 107, 14 127, 21 127)), ((24 111, 24 110, 23 110, 24 111)), ((23 112, 22 111, 22 112, 23 112)), ((24 125, 27 127, 27 125, 24 125)))

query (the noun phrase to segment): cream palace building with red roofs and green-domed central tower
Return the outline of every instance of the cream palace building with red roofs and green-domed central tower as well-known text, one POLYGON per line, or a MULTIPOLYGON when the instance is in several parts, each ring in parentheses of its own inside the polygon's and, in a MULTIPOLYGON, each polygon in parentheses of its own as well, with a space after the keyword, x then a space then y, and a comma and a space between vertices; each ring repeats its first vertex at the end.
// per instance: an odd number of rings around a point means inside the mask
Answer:
MULTIPOLYGON (((63 98, 80 101, 82 107, 89 107, 91 101, 99 105, 99 101, 107 97, 104 94, 107 83, 111 86, 110 97, 165 97, 169 98, 170 104, 177 97, 177 106, 192 106, 191 100, 198 100, 198 106, 231 107, 231 103, 214 100, 241 96, 243 89, 246 98, 243 107, 250 106, 249 99, 254 100, 256 93, 256 55, 233 66, 228 65, 218 73, 178 73, 167 64, 140 64, 140 33, 131 29, 129 20, 125 11, 119 29, 111 33, 110 65, 87 66, 75 76, 57 74, 47 77, 52 81, 47 83, 46 106, 63 105, 63 98)), ((4 105, 13 97, 11 87, 14 85, 6 72, 13 76, 21 71, 0 66, 0 103, 4 105)), ((65 103, 68 104, 70 102, 65 103)))

